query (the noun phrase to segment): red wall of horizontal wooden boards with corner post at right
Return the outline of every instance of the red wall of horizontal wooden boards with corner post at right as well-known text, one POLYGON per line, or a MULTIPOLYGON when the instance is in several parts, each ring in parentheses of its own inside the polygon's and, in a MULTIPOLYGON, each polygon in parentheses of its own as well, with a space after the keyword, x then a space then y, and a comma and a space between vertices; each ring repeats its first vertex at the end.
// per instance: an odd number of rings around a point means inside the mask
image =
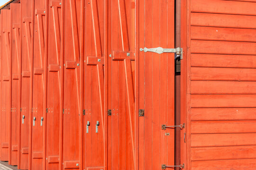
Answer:
POLYGON ((185 170, 256 167, 255 8, 255 0, 182 4, 185 170))

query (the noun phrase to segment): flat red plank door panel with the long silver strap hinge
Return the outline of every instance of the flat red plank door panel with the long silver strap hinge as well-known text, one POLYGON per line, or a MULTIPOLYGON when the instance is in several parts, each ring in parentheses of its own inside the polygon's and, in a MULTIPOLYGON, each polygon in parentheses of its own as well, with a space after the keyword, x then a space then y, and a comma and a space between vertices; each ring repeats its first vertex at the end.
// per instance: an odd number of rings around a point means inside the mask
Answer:
MULTIPOLYGON (((140 0, 137 16, 139 48, 174 48, 174 0, 140 0)), ((139 170, 174 166, 174 53, 139 51, 137 111, 139 170)), ((137 70, 136 70, 137 71, 137 70)), ((179 128, 179 127, 178 127, 179 128)), ((174 168, 174 167, 173 167, 174 168)))

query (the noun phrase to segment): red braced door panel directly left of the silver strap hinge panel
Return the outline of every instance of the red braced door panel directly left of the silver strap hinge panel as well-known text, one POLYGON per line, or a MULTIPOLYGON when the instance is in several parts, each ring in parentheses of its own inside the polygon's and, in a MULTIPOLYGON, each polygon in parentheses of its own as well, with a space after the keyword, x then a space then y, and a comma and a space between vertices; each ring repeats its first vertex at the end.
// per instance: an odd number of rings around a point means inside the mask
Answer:
POLYGON ((109 2, 111 127, 109 168, 133 170, 135 160, 135 3, 109 2))

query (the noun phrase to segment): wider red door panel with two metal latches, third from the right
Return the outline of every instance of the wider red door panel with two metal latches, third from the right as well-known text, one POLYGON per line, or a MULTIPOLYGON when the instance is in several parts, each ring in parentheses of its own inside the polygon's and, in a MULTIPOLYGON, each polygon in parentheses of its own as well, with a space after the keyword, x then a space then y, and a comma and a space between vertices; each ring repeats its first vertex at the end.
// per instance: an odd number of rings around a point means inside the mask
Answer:
POLYGON ((84 41, 84 166, 103 169, 104 0, 86 0, 84 41))

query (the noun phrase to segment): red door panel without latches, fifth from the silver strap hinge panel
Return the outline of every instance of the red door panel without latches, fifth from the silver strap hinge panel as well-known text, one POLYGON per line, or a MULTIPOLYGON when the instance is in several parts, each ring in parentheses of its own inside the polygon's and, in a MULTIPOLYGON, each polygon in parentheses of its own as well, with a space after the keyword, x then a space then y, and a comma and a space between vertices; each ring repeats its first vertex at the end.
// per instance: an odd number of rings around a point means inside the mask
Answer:
MULTIPOLYGON (((46 170, 57 170, 59 163, 60 114, 63 95, 63 59, 61 57, 61 0, 48 0, 48 62, 46 110, 46 170)), ((60 160, 61 162, 61 160, 60 160)))

